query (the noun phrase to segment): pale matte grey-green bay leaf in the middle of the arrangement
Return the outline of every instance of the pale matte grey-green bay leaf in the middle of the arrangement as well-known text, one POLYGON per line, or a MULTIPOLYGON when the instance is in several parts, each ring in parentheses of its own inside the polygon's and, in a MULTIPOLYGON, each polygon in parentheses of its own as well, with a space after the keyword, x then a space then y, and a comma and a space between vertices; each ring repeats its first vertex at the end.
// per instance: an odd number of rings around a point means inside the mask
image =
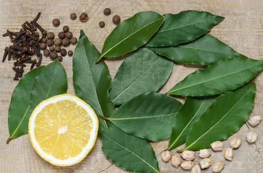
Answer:
POLYGON ((173 62, 148 48, 141 48, 119 67, 110 90, 110 100, 121 105, 133 96, 158 91, 169 78, 173 62))

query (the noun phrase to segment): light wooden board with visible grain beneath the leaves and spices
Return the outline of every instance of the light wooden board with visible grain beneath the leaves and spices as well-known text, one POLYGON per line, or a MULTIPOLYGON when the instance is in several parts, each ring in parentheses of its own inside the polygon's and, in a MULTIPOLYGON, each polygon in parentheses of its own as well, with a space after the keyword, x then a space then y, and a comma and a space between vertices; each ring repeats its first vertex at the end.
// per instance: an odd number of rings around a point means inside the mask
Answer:
MULTIPOLYGON (((164 14, 178 13, 188 9, 209 11, 225 16, 226 19, 215 26, 210 34, 248 57, 263 59, 263 0, 0 0, 0 33, 5 33, 6 29, 19 31, 23 22, 33 20, 37 12, 40 11, 42 15, 38 23, 47 31, 57 35, 62 31, 64 25, 68 25, 73 35, 78 38, 80 29, 83 29, 101 51, 105 38, 115 27, 111 21, 115 14, 120 15, 124 20, 139 11, 153 10, 164 14), (103 15, 105 7, 112 9, 113 13, 110 16, 103 15), (90 19, 87 23, 70 20, 69 14, 71 12, 79 15, 83 11, 89 14, 90 19), (54 18, 60 19, 60 27, 53 27, 52 20, 54 18), (105 21, 105 28, 99 28, 99 21, 105 21)), ((1 57, 4 47, 9 44, 9 38, 0 36, 1 57)), ((69 49, 73 50, 74 46, 67 48, 67 50, 69 49)), ((122 61, 122 58, 106 60, 112 78, 122 61)), ((43 64, 50 62, 49 58, 43 58, 43 64)), ((105 158, 101 151, 99 138, 92 152, 81 163, 64 168, 53 166, 41 159, 33 150, 28 135, 11 140, 7 145, 5 142, 9 137, 8 107, 11 94, 18 83, 13 81, 12 63, 11 61, 0 63, 0 173, 124 173, 123 170, 112 165, 105 158)), ((72 57, 66 56, 62 64, 67 73, 68 92, 74 93, 72 57)), ((172 75, 161 92, 168 91, 196 69, 195 67, 174 65, 172 75)), ((29 71, 29 68, 27 67, 25 71, 29 71)), ((263 74, 257 76, 254 81, 257 84, 257 94, 251 115, 261 115, 263 112, 263 74)), ((256 128, 244 125, 237 133, 224 141, 224 149, 229 146, 230 139, 236 136, 242 138, 242 145, 234 150, 233 160, 231 162, 225 160, 223 152, 212 152, 212 162, 222 161, 225 163, 226 166, 222 173, 262 173, 263 123, 256 128), (256 144, 248 144, 245 140, 249 129, 257 131, 259 134, 256 144)), ((176 169, 170 163, 162 162, 160 153, 167 147, 167 140, 151 144, 156 152, 162 173, 184 172, 181 168, 176 169)), ((175 154, 176 149, 171 153, 175 154)), ((198 164, 198 152, 196 152, 196 156, 195 163, 198 164)), ((210 173, 211 170, 210 167, 202 172, 210 173)))

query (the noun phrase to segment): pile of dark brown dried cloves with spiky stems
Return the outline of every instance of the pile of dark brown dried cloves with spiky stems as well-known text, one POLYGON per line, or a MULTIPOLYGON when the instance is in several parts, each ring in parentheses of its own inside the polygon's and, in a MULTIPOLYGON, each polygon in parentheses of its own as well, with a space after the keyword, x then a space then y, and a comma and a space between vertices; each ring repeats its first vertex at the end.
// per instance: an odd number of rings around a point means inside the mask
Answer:
POLYGON ((31 64, 30 70, 32 70, 35 66, 38 67, 41 65, 42 54, 40 53, 39 44, 42 43, 42 40, 47 37, 47 31, 37 23, 40 14, 41 13, 39 12, 33 21, 26 21, 23 23, 22 29, 19 32, 6 30, 6 33, 2 35, 3 37, 9 36, 11 42, 13 43, 13 45, 4 48, 2 62, 5 61, 6 57, 8 57, 8 61, 11 59, 16 60, 13 67, 13 70, 15 71, 14 80, 19 80, 19 78, 23 76, 26 64, 31 64), (37 29, 42 34, 41 38, 37 29), (38 57, 38 61, 36 61, 36 59, 32 59, 33 55, 38 57))

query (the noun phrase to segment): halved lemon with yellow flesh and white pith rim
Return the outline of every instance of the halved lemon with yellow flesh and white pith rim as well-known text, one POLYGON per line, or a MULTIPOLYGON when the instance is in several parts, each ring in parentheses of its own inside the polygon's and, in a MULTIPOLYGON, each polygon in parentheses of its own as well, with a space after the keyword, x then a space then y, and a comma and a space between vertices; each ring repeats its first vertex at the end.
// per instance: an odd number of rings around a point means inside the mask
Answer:
POLYGON ((99 121, 91 106, 71 94, 40 102, 29 119, 33 148, 56 166, 82 161, 93 148, 98 129, 99 121))

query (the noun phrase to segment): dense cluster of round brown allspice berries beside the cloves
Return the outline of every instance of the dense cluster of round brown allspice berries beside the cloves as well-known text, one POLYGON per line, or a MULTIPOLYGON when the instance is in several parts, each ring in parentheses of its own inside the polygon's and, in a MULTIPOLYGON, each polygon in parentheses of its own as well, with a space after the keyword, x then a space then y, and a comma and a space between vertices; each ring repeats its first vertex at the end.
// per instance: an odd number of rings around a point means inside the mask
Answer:
POLYGON ((47 38, 43 39, 43 42, 40 43, 40 49, 43 50, 44 56, 49 56, 51 60, 55 60, 56 58, 58 58, 58 60, 61 62, 63 60, 63 56, 66 56, 66 54, 68 54, 68 56, 73 55, 72 50, 68 50, 67 52, 65 48, 62 48, 62 46, 69 46, 70 43, 73 45, 77 43, 77 38, 73 37, 73 34, 69 31, 68 26, 64 26, 63 31, 59 33, 58 38, 56 38, 55 41, 54 39, 55 34, 49 32, 47 33, 47 38), (47 46, 49 47, 49 50, 47 49, 47 46), (58 53, 60 53, 61 55, 59 56, 58 53))

